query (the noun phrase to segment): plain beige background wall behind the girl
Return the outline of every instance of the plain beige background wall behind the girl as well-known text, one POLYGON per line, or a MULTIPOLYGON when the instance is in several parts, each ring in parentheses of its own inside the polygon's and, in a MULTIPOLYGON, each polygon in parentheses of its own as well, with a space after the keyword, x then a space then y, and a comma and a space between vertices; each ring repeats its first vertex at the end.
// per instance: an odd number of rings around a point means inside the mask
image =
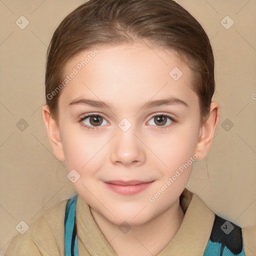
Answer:
MULTIPOLYGON (((21 220, 29 225, 74 191, 65 164, 52 153, 41 107, 47 45, 59 22, 82 2, 0 0, 0 254, 21 220), (21 15, 29 21, 24 29, 15 24, 21 15), (28 123, 23 131, 17 127, 21 118, 28 123)), ((207 159, 194 164, 187 187, 218 215, 240 226, 255 224, 256 1, 177 2, 210 38, 216 66, 214 101, 220 104, 212 147, 207 159), (227 15, 234 21, 229 29, 221 24, 227 15)), ((230 19, 224 22, 231 24, 230 19)))

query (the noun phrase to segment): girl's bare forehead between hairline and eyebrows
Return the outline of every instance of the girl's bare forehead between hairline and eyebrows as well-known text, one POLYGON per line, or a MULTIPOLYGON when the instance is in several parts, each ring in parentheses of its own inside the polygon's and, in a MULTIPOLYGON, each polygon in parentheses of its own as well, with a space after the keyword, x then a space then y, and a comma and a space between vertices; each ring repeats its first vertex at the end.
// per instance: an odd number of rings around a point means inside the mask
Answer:
POLYGON ((191 89, 192 70, 173 51, 145 42, 84 50, 67 62, 64 74, 74 70, 76 74, 61 92, 60 100, 65 103, 85 95, 122 104, 166 93, 186 101, 196 97, 191 89))

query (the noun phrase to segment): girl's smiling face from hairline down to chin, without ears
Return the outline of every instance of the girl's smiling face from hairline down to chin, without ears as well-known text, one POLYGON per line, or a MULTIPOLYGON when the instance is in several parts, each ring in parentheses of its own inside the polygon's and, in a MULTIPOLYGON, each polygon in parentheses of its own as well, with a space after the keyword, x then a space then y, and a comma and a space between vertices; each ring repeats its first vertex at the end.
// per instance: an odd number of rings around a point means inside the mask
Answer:
POLYGON ((141 224, 177 202, 200 155, 193 73, 152 45, 97 49, 65 67, 75 73, 58 101, 67 170, 92 211, 115 224, 141 224))

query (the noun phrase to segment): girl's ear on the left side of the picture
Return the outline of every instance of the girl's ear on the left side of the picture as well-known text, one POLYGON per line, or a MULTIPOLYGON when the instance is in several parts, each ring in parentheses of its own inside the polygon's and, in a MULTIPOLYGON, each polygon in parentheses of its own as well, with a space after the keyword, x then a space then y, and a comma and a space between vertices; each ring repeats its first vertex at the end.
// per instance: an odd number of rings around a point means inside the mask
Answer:
POLYGON ((59 128, 57 122, 50 115, 50 110, 48 105, 43 105, 42 107, 42 117, 46 126, 48 137, 53 149, 55 156, 60 160, 64 161, 64 152, 62 147, 62 141, 59 134, 59 128))

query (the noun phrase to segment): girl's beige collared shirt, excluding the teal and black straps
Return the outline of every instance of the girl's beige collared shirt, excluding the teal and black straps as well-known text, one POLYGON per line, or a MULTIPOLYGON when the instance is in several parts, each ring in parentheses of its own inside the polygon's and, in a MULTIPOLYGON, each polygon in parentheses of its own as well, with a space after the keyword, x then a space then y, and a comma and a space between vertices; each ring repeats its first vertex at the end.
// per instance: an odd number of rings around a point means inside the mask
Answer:
MULTIPOLYGON (((64 217, 68 200, 47 208, 29 229, 18 233, 8 244, 4 256, 64 255, 64 217)), ((171 241, 157 256, 202 256, 214 221, 211 211, 198 197, 186 190, 180 199, 185 212, 183 221, 171 241)), ((78 251, 81 256, 117 256, 95 223, 89 205, 78 195, 76 203, 78 251)), ((256 255, 256 226, 242 227, 246 256, 256 255)))

